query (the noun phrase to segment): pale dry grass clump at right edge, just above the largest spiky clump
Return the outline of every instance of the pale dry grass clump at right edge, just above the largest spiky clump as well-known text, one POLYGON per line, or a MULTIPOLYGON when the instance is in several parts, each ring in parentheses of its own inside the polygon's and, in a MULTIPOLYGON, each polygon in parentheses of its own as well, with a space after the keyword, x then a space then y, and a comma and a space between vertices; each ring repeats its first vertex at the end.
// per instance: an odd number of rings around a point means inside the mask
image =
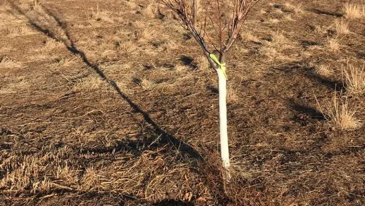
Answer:
POLYGON ((365 94, 365 65, 360 68, 347 64, 346 68, 342 68, 342 76, 346 93, 357 96, 365 94))

